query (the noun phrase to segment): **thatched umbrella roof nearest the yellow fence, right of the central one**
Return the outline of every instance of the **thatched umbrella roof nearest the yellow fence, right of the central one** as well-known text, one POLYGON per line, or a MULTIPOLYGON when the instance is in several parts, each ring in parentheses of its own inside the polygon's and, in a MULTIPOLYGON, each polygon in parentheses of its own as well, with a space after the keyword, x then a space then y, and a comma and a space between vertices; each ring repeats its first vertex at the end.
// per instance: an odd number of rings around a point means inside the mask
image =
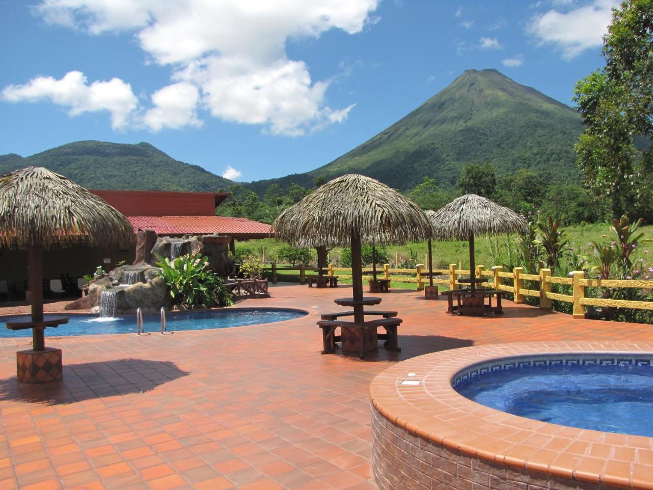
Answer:
POLYGON ((428 213, 433 237, 438 240, 468 240, 471 235, 496 235, 526 231, 526 221, 515 211, 486 197, 466 194, 436 212, 428 213))

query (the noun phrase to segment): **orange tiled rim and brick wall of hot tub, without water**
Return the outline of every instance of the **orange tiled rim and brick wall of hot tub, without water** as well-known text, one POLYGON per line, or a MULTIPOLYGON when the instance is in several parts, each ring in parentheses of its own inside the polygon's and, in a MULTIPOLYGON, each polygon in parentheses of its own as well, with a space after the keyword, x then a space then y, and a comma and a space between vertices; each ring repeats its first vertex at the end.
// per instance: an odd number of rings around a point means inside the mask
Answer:
POLYGON ((370 385, 372 470, 379 488, 653 490, 653 438, 513 416, 452 387, 461 373, 488 361, 572 352, 615 359, 631 353, 653 365, 648 342, 532 342, 441 351, 381 372, 370 385))

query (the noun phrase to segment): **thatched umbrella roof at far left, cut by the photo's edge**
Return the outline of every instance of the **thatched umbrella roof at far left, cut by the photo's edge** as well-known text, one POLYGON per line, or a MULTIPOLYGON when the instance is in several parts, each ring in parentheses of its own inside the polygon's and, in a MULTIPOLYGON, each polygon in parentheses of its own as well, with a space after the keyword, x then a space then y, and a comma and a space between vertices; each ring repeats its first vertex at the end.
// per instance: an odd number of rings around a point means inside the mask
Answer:
POLYGON ((104 199, 62 175, 27 167, 0 176, 0 246, 48 250, 129 244, 131 224, 104 199))

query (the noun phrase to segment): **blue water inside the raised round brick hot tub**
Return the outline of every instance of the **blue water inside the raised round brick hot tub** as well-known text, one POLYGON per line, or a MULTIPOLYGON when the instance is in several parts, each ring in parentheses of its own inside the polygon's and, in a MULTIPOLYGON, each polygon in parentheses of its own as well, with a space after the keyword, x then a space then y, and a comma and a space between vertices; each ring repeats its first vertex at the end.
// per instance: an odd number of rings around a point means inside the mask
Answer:
POLYGON ((653 436, 653 367, 527 366, 456 385, 485 406, 580 429, 653 436))

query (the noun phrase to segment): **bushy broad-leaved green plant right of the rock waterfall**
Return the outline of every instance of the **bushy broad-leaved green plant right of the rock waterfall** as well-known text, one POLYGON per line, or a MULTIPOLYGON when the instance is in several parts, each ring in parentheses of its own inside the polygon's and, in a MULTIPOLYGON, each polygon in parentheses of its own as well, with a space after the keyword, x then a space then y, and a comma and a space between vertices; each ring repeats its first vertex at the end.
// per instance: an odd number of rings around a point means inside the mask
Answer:
POLYGON ((170 288, 170 297, 174 304, 184 308, 233 304, 224 280, 211 270, 206 270, 207 257, 191 253, 173 261, 161 255, 157 255, 157 258, 160 268, 157 274, 170 288))

